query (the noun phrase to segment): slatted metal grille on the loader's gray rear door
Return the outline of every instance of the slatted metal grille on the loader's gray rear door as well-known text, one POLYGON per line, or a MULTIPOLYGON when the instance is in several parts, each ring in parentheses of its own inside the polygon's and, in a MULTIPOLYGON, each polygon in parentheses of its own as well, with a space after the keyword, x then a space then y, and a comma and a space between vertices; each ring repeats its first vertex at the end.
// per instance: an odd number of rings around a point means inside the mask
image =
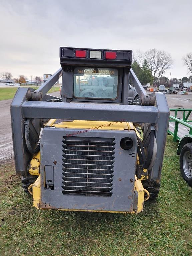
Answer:
POLYGON ((114 141, 63 136, 63 194, 112 195, 114 141))

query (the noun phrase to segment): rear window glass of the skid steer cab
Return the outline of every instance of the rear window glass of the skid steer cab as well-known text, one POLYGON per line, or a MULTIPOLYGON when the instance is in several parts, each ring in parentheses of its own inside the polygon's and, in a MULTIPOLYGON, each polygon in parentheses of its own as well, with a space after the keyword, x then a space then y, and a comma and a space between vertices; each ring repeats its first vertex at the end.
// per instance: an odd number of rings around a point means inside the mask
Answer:
POLYGON ((74 70, 76 98, 117 98, 118 70, 113 68, 82 68, 74 70))

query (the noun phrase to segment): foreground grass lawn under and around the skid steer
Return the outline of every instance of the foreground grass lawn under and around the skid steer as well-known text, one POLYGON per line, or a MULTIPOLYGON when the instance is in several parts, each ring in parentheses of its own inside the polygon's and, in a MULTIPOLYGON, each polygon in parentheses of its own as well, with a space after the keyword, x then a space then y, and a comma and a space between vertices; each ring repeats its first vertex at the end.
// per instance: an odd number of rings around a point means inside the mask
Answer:
POLYGON ((0 255, 192 255, 192 188, 168 136, 160 195, 138 215, 37 210, 14 164, 1 167, 0 255))

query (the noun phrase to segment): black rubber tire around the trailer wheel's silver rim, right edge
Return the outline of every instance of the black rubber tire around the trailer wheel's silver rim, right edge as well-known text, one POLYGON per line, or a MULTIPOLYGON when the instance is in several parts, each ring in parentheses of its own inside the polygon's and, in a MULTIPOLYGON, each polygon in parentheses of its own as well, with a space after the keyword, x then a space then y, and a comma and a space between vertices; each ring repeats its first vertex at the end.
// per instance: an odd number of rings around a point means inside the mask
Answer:
MULTIPOLYGON (((192 186, 192 166, 191 166, 191 168, 189 166, 189 168, 190 168, 189 172, 191 173, 191 178, 186 175, 186 173, 184 171, 185 167, 183 166, 183 161, 184 161, 183 157, 184 157, 185 152, 187 152, 187 151, 189 151, 191 153, 191 155, 192 155, 192 143, 185 144, 183 146, 183 148, 181 149, 181 153, 180 153, 180 170, 181 170, 181 175, 182 175, 183 179, 189 184, 189 186, 192 186)), ((192 160, 189 161, 189 162, 191 162, 191 165, 192 165, 192 160)))

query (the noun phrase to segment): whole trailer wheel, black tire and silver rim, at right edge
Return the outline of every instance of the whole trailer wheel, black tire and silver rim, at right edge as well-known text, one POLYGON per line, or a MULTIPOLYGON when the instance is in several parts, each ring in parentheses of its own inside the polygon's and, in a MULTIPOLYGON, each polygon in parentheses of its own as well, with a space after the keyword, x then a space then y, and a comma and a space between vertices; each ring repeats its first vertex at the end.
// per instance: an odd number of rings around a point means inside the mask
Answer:
POLYGON ((192 186, 192 143, 187 143, 181 149, 180 169, 183 179, 192 186))

